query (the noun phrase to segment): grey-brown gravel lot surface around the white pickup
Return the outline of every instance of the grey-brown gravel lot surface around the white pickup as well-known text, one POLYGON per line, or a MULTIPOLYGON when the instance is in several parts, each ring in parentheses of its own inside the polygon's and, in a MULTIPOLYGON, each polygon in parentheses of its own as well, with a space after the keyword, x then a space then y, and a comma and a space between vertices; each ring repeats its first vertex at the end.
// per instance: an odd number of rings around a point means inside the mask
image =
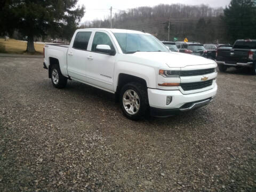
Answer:
POLYGON ((256 191, 255 76, 229 69, 210 105, 133 122, 42 62, 0 58, 0 191, 256 191))

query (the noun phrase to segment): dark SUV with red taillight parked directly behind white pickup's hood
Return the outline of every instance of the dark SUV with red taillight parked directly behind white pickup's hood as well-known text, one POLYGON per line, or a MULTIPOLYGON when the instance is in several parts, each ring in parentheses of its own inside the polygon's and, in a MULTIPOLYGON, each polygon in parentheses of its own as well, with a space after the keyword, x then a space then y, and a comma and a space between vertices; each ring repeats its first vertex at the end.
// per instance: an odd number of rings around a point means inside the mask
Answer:
POLYGON ((194 54, 202 57, 206 56, 206 50, 204 48, 204 45, 200 43, 177 42, 176 45, 179 49, 179 52, 181 53, 189 53, 189 54, 194 54))

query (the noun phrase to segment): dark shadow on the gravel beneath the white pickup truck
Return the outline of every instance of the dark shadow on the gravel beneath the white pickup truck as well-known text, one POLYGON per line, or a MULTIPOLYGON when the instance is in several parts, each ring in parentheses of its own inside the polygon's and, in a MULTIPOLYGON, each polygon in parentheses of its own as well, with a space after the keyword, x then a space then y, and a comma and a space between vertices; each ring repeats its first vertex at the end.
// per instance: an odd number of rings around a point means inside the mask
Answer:
MULTIPOLYGON (((97 89, 93 86, 75 81, 69 81, 67 87, 65 87, 65 89, 62 89, 61 91, 65 92, 66 95, 70 95, 69 97, 71 97, 78 103, 81 103, 81 105, 84 105, 84 103, 88 103, 86 105, 92 105, 95 108, 102 108, 105 111, 105 113, 108 114, 107 118, 110 118, 111 116, 113 116, 113 114, 115 114, 121 121, 124 121, 126 123, 134 122, 123 116, 122 110, 120 108, 120 103, 115 102, 115 95, 113 93, 109 93, 107 91, 97 89)), ((140 121, 137 121, 136 123, 156 125, 164 125, 170 123, 179 124, 179 122, 182 122, 183 119, 186 119, 190 123, 193 123, 198 118, 204 118, 204 108, 205 107, 188 111, 186 113, 180 113, 178 115, 170 117, 147 116, 146 118, 143 118, 140 121)), ((99 114, 99 116, 101 116, 101 114, 99 114)))

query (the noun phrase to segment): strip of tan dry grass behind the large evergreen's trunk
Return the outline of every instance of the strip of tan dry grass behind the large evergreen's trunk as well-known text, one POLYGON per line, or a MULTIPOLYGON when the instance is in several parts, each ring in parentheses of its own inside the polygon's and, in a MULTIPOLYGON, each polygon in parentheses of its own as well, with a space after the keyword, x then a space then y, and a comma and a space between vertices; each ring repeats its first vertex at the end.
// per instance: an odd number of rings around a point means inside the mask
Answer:
POLYGON ((0 38, 0 53, 12 53, 12 54, 43 54, 44 44, 34 43, 35 53, 27 53, 27 42, 18 41, 15 39, 7 39, 4 41, 4 38, 0 38))

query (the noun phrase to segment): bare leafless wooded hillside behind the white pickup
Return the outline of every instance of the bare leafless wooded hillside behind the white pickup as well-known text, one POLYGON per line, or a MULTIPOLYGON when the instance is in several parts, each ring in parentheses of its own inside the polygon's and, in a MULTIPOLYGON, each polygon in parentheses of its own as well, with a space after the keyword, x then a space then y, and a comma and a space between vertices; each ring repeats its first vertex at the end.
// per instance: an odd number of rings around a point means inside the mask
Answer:
MULTIPOLYGON (((207 5, 159 4, 154 7, 137 7, 114 14, 113 28, 144 30, 161 40, 168 38, 170 21, 170 39, 177 37, 183 41, 216 42, 225 41, 225 29, 220 15, 222 7, 212 8, 207 5), (201 20, 199 21, 199 18, 201 20), (203 19, 202 19, 203 18, 203 19), (222 26, 221 26, 222 25, 222 26), (197 28, 198 27, 198 28, 197 28)), ((82 28, 110 27, 109 18, 84 23, 82 28)))

